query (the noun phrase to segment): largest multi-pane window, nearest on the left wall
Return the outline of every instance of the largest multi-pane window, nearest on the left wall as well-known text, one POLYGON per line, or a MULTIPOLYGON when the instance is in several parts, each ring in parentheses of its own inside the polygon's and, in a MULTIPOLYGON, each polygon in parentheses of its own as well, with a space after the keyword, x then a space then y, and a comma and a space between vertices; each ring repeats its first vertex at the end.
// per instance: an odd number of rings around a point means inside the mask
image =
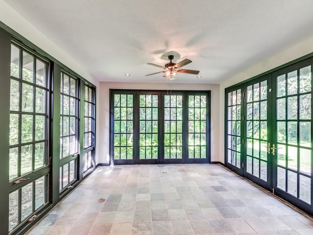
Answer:
POLYGON ((49 63, 11 44, 9 231, 48 202, 49 63))

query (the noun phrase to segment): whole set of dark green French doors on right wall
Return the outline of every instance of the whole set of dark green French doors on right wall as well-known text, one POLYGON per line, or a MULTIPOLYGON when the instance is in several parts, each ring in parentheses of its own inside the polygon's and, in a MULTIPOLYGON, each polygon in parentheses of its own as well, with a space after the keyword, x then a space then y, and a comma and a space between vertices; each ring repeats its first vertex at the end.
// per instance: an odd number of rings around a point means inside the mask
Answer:
POLYGON ((226 90, 227 167, 313 214, 308 59, 226 90))

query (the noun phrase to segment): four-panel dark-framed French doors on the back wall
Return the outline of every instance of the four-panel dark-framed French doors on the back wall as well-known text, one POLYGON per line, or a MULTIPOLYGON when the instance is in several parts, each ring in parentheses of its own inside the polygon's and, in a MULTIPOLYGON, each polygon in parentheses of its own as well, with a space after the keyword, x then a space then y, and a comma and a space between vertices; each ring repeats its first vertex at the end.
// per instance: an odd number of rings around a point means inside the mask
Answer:
POLYGON ((113 163, 208 163, 209 102, 209 92, 112 90, 113 163))

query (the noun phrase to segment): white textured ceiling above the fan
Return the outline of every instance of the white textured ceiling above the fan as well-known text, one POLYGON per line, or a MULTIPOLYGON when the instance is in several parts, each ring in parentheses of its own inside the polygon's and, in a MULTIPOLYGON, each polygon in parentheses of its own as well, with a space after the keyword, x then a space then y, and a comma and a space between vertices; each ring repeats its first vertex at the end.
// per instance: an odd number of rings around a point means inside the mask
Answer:
MULTIPOLYGON (((313 36, 313 0, 5 0, 99 81, 219 83, 313 36), (130 73, 127 77, 124 74, 130 73)), ((62 61, 61 61, 62 62, 62 61)))

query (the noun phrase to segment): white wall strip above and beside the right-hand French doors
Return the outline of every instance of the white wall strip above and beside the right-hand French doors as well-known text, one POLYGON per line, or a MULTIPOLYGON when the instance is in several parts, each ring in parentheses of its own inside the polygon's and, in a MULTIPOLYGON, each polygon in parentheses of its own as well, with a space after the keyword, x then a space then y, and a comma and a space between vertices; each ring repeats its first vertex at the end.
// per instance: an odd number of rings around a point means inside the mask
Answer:
POLYGON ((220 159, 219 161, 224 163, 224 98, 225 98, 225 88, 235 85, 241 81, 245 81, 251 77, 257 76, 263 72, 275 69, 281 65, 289 63, 295 59, 298 59, 302 56, 310 54, 313 52, 313 37, 304 40, 301 43, 294 45, 264 61, 258 63, 250 68, 247 68, 244 71, 241 71, 235 74, 232 77, 229 77, 227 80, 220 83, 220 117, 221 117, 221 126, 220 126, 220 159))

